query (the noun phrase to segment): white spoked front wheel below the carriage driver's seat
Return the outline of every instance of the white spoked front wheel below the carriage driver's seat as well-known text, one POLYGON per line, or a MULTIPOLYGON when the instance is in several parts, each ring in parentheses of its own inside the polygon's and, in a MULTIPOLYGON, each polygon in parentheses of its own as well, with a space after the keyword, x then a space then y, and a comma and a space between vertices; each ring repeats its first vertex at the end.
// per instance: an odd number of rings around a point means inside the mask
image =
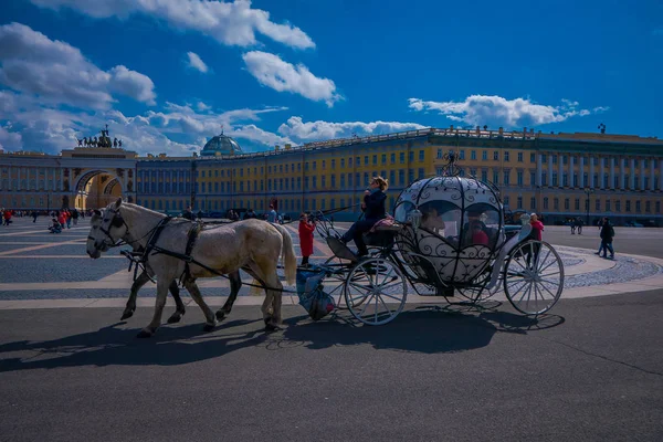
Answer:
POLYGON ((352 316, 367 325, 382 325, 402 312, 408 285, 390 260, 372 257, 352 267, 344 285, 344 295, 352 316))

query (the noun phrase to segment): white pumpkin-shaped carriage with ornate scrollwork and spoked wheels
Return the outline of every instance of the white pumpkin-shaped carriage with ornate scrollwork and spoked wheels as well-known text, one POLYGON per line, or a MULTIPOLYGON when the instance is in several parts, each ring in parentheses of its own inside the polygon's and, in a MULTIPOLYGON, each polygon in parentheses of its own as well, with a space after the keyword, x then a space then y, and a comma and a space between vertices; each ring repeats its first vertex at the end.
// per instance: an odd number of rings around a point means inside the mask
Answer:
POLYGON ((309 311, 314 319, 336 306, 364 324, 387 324, 403 309, 408 291, 477 306, 503 293, 525 315, 557 303, 562 261, 550 244, 532 238, 529 215, 519 228, 505 225, 495 186, 462 177, 453 158, 445 170, 401 192, 393 218, 365 236, 368 256, 357 257, 327 215, 315 214, 333 256, 298 271, 302 304, 309 309, 314 297, 326 299, 309 311))

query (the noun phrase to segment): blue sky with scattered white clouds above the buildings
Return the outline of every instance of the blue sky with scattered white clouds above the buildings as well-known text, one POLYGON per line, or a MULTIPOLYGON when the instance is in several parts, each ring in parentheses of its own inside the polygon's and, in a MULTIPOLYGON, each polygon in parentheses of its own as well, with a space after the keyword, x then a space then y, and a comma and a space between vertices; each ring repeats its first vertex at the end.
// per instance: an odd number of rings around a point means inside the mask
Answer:
POLYGON ((425 127, 663 137, 663 2, 3 0, 0 149, 425 127))

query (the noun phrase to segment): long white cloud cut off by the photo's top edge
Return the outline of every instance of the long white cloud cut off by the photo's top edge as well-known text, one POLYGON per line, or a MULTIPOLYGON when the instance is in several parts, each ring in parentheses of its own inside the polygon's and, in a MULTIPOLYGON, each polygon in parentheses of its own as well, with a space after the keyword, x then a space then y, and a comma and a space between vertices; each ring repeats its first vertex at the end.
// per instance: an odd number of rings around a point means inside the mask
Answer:
POLYGON ((192 30, 228 45, 256 44, 255 33, 261 33, 292 48, 315 48, 313 40, 299 28, 278 24, 270 13, 252 9, 251 1, 232 3, 207 0, 31 0, 50 9, 71 8, 96 19, 116 17, 126 19, 141 13, 164 20, 171 27, 192 30))

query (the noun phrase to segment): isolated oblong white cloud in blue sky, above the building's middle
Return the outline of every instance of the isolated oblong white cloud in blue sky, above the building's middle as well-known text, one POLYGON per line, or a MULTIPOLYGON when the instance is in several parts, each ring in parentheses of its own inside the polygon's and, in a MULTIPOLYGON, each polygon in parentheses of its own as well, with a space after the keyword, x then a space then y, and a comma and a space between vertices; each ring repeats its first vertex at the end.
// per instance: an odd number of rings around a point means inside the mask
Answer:
POLYGON ((295 66, 278 55, 262 51, 246 52, 242 59, 251 75, 275 91, 292 92, 314 102, 324 101, 329 107, 343 98, 332 80, 318 78, 303 64, 295 66))

